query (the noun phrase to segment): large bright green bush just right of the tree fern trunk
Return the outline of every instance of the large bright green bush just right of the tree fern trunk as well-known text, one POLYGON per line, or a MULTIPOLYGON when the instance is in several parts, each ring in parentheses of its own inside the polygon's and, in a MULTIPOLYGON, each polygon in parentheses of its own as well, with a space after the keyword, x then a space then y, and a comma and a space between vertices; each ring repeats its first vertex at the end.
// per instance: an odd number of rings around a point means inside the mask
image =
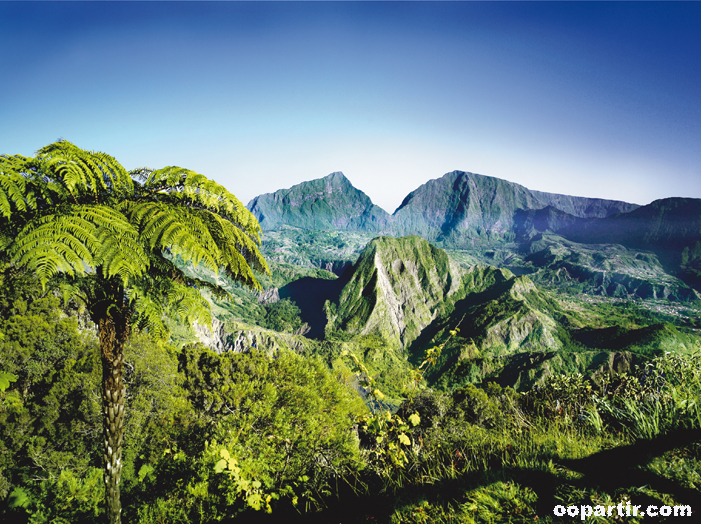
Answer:
POLYGON ((151 466, 144 490, 159 493, 163 516, 203 522, 277 499, 312 507, 362 467, 352 426, 365 407, 320 361, 192 346, 179 362, 203 446, 174 446, 151 466))

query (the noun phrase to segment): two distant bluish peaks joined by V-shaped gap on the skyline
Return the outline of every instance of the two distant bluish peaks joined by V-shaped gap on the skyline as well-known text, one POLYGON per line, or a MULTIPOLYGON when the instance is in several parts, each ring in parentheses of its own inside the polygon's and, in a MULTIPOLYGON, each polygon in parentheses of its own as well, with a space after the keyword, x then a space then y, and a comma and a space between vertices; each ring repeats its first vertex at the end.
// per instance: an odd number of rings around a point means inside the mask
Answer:
POLYGON ((494 177, 453 171, 409 193, 390 215, 353 187, 343 173, 266 193, 248 203, 263 230, 368 231, 429 240, 508 235, 519 210, 552 207, 577 218, 603 218, 639 206, 616 200, 531 191, 494 177))

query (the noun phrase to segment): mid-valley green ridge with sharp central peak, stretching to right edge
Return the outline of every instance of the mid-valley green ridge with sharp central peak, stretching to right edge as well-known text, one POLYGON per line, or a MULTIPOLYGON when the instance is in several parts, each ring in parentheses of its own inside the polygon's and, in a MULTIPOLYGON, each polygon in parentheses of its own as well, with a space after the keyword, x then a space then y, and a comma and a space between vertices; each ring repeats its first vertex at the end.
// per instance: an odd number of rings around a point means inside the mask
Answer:
POLYGON ((506 268, 466 267, 419 236, 375 237, 340 277, 305 271, 274 288, 300 308, 305 336, 235 318, 227 321, 226 343, 272 353, 286 346, 341 368, 339 355, 349 349, 399 395, 408 366, 439 344, 445 347, 426 374, 429 384, 452 389, 489 379, 523 389, 552 373, 629 371, 646 355, 690 351, 699 342, 693 329, 680 331, 629 301, 597 305, 506 268))

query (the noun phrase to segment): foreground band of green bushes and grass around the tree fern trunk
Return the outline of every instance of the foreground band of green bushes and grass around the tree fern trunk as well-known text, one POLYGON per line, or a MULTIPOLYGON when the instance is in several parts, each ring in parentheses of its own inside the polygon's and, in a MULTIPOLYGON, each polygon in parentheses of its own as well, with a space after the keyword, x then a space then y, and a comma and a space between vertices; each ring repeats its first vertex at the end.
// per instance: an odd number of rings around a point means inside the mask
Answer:
MULTIPOLYGON (((1 289, 0 369, 17 377, 0 393, 2 518, 101 522, 95 333, 31 274, 6 270, 1 289)), ((625 312, 590 314, 656 318, 625 312)), ((522 392, 484 376, 426 389, 407 364, 406 387, 388 389, 396 356, 377 337, 306 352, 319 357, 219 355, 136 333, 125 347, 125 521, 557 522, 557 504, 698 498, 698 352, 650 351, 627 372, 550 375, 522 392)))

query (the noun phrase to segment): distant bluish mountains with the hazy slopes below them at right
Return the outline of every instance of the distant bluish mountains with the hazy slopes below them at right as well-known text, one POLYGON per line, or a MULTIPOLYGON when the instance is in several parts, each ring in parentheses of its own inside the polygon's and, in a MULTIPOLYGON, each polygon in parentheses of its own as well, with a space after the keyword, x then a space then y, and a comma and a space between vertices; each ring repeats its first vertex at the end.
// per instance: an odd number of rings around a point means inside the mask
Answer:
MULTIPOLYGON (((586 292, 690 300, 701 291, 701 199, 639 206, 453 171, 409 193, 390 215, 337 172, 247 207, 264 231, 419 235, 477 261, 537 273, 536 282, 578 282, 586 292)), ((330 257, 328 267, 345 268, 362 247, 345 260, 330 257)))

